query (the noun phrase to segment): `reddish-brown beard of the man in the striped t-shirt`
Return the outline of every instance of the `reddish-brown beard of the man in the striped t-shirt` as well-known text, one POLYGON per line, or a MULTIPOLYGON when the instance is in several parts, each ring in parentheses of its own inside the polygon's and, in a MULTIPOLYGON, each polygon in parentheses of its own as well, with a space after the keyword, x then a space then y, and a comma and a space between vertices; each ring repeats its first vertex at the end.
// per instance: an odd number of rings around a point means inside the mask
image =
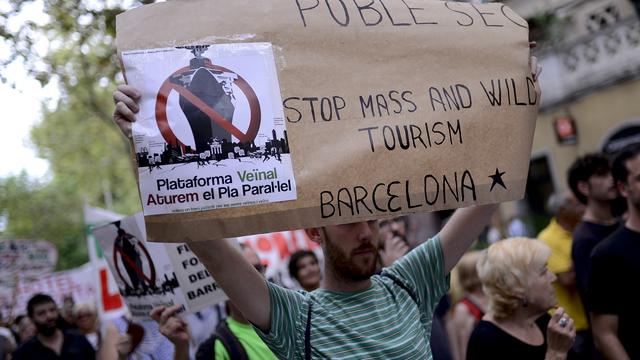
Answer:
POLYGON ((334 244, 333 239, 329 238, 326 230, 324 231, 325 237, 325 257, 327 263, 330 264, 331 268, 337 275, 337 277, 352 280, 352 281, 362 281, 369 279, 376 272, 376 267, 378 264, 378 249, 373 244, 363 244, 358 248, 354 249, 353 252, 371 250, 373 252, 374 257, 371 260, 371 263, 366 267, 358 266, 355 263, 353 256, 349 254, 345 254, 337 245, 334 244))

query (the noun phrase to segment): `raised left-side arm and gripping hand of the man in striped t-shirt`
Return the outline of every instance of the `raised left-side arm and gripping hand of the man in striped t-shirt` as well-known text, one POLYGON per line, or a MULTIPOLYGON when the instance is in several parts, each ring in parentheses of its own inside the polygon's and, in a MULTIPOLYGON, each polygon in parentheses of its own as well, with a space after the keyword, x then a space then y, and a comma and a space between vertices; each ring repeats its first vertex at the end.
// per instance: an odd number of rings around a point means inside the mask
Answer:
MULTIPOLYGON (((125 136, 131 137, 131 123, 135 122, 135 114, 139 111, 137 102, 140 100, 140 92, 132 86, 120 85, 113 93, 113 100, 116 104, 113 121, 125 136)), ((189 242, 189 248, 229 299, 247 320, 267 332, 271 313, 266 280, 228 241, 193 240, 189 242)))

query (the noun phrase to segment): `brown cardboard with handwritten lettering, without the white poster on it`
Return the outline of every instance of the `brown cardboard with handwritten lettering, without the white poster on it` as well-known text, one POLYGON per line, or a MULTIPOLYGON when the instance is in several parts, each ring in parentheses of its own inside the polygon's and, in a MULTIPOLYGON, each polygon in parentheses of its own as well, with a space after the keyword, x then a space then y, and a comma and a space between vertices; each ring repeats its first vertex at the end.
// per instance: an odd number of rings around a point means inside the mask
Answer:
MULTIPOLYGON (((203 53, 206 59, 197 61, 207 61, 204 68, 212 71, 229 70, 223 74, 227 78, 244 77, 243 67, 238 59, 224 63, 232 54, 216 47, 270 44, 281 91, 271 99, 280 97, 284 109, 295 200, 249 205, 253 200, 242 199, 231 202, 238 207, 200 211, 208 206, 199 202, 205 193, 233 196, 226 187, 242 192, 236 185, 242 180, 236 172, 230 174, 233 186, 192 181, 189 194, 197 195, 173 199, 192 203, 189 209, 198 211, 147 213, 152 241, 300 229, 515 200, 524 194, 539 96, 528 65, 527 23, 502 4, 173 1, 120 14, 117 30, 125 60, 132 52, 211 45, 214 53, 203 53)), ((169 61, 167 66, 175 72, 174 65, 169 61)), ((165 73, 157 77, 157 83, 167 79, 165 73)), ((168 97, 187 94, 177 89, 168 97)), ((155 103, 152 116, 161 125, 154 131, 164 126, 165 99, 159 90, 146 91, 142 100, 155 103)), ((201 103, 208 104, 207 99, 196 95, 186 102, 207 110, 212 124, 223 125, 228 120, 221 115, 224 106, 205 107, 201 103)), ((233 126, 236 138, 251 133, 245 126, 233 126)), ((225 128, 233 130, 229 124, 225 128)), ((186 144, 199 135, 176 136, 186 144)), ((152 184, 157 194, 165 191, 160 185, 152 184)), ((146 196, 142 201, 148 203, 149 185, 140 186, 146 196)), ((287 191, 274 186, 273 193, 287 191)))

